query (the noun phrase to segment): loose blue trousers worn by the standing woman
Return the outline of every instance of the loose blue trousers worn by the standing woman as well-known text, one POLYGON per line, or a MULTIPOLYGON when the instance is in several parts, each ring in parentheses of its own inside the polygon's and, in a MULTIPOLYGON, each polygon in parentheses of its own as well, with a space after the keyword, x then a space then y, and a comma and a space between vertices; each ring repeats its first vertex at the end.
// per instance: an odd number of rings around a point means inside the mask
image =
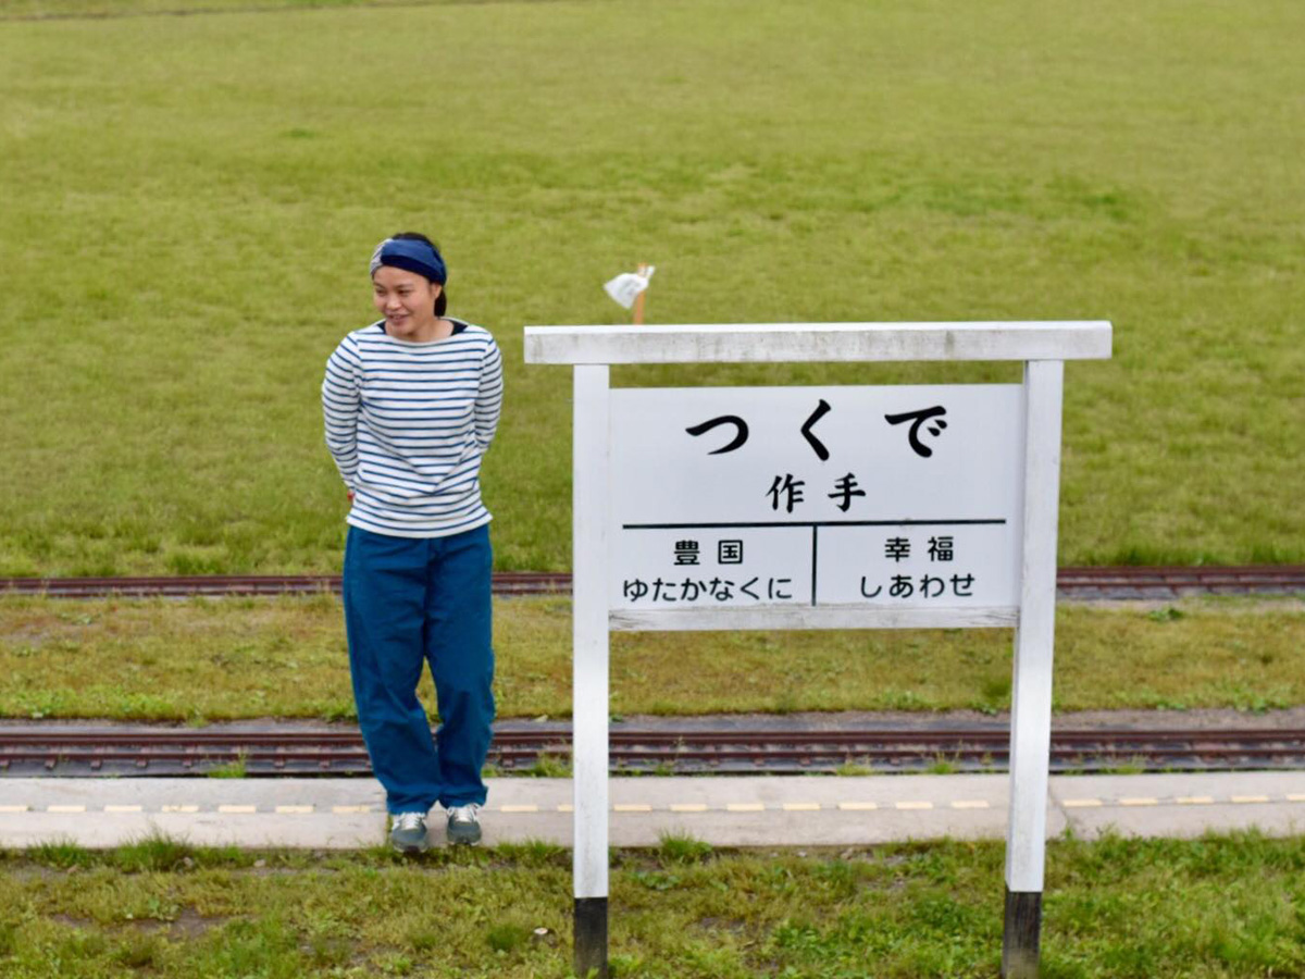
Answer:
POLYGON ((489 527, 437 538, 348 529, 345 628, 359 726, 392 813, 484 804, 495 702, 489 527), (416 696, 435 679, 440 731, 416 696))

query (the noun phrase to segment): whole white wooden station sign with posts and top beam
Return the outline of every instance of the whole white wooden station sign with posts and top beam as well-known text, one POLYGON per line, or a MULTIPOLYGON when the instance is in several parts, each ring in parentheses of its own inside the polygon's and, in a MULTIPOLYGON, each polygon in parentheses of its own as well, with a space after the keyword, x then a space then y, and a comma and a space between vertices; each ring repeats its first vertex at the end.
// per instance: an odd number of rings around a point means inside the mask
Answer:
POLYGON ((1002 975, 1036 976, 1064 362, 1108 322, 526 328, 574 365, 576 971, 607 975, 611 629, 1015 627, 1002 975), (1023 360, 1022 385, 619 389, 625 363, 1023 360))

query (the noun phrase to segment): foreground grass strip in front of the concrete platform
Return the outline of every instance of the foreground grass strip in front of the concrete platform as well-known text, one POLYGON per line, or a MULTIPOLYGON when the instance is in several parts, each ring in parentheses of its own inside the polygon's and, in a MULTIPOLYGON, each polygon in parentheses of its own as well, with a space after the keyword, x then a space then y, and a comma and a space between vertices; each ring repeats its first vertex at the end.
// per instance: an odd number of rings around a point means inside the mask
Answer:
MULTIPOLYGON (((1045 979, 1305 970, 1301 838, 1060 839, 1047 858, 1045 979)), ((617 851, 613 975, 992 976, 1001 867, 1000 843, 617 851)), ((50 845, 0 856, 0 966, 13 979, 569 975, 569 854, 540 843, 407 863, 50 845)))

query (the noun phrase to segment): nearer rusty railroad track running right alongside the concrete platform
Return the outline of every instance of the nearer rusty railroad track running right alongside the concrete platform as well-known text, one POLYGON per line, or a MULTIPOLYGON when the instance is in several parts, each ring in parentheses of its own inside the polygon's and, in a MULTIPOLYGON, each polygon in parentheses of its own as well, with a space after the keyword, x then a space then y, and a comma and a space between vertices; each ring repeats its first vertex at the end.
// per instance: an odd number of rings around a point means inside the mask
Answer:
MULTIPOLYGON (((613 730, 616 773, 1002 771, 1009 730, 668 731, 613 730)), ((564 771, 570 731, 497 731, 489 764, 504 774, 564 771)), ((1052 771, 1224 771, 1305 769, 1305 731, 1060 730, 1052 771)), ((355 728, 159 730, 157 727, 0 728, 0 777, 368 775, 355 728)))

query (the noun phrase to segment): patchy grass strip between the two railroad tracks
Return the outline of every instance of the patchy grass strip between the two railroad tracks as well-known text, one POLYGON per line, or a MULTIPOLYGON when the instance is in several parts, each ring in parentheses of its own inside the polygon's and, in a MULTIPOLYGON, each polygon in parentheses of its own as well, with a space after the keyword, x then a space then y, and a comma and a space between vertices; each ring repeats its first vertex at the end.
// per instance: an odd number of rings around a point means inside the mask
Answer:
MULTIPOLYGON (((352 718, 339 604, 0 599, 0 717, 352 718)), ((569 717, 570 604, 496 608, 500 717, 569 717)), ((620 633, 612 713, 1010 707, 1010 630, 620 633)), ((1057 710, 1305 704, 1298 602, 1062 606, 1057 710)), ((433 710, 429 677, 422 693, 433 710)))

